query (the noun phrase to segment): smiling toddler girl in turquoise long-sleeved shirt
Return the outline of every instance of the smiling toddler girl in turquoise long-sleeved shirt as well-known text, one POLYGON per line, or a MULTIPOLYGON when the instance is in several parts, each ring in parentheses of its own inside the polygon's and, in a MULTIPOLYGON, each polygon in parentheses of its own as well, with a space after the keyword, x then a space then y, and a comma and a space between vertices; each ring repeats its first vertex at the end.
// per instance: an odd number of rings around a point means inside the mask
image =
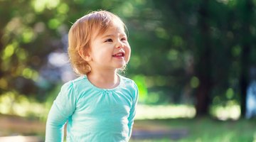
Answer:
POLYGON ((63 84, 48 114, 46 141, 129 141, 138 101, 134 81, 118 74, 129 62, 126 26, 109 11, 78 19, 68 33, 71 65, 80 77, 63 84))

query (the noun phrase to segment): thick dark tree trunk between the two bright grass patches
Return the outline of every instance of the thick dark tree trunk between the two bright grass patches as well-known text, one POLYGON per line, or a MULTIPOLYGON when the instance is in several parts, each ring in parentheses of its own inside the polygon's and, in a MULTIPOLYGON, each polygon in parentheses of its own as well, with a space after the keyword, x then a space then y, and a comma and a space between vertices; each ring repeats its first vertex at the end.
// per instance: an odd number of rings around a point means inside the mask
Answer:
POLYGON ((208 115, 210 104, 210 28, 208 26, 208 0, 204 0, 199 9, 199 27, 200 39, 195 56, 196 60, 196 76, 198 77, 199 86, 196 89, 196 116, 208 115))

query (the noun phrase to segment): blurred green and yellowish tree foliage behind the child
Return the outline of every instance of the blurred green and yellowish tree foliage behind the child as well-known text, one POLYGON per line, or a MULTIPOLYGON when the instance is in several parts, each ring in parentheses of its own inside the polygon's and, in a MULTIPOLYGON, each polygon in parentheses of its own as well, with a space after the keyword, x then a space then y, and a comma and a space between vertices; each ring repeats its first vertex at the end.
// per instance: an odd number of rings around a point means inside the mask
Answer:
POLYGON ((248 71, 256 62, 252 0, 2 0, 0 94, 43 99, 56 83, 37 85, 48 55, 65 53, 72 23, 97 9, 127 23, 127 72, 138 82, 141 102, 195 104, 198 115, 208 114, 210 104, 235 102, 244 112, 248 71))

